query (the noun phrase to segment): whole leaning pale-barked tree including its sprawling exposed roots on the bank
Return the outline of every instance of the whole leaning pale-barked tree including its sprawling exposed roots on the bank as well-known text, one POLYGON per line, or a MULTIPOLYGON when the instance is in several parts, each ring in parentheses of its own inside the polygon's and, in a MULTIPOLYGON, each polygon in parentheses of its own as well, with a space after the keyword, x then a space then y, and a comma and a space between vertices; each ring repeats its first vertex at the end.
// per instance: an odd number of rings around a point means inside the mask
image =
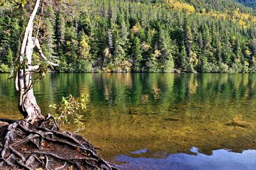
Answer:
MULTIPOLYGON (((102 159, 83 136, 61 132, 50 114, 45 118, 41 114, 33 94, 32 73, 40 69, 32 66, 33 49, 51 66, 58 65, 47 61, 42 53, 37 39, 40 20, 33 38, 33 21, 39 6, 40 0, 36 0, 24 32, 16 71, 15 87, 24 119, 8 125, 0 134, 0 169, 116 169, 102 159)), ((42 9, 43 6, 44 3, 42 9)))

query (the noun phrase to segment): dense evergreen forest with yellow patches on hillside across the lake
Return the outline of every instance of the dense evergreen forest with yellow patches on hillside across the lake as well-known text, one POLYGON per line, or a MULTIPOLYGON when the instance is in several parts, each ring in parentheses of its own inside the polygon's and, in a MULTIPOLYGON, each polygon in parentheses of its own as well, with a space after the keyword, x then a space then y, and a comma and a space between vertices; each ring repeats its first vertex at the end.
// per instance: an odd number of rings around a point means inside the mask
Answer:
MULTIPOLYGON (((26 15, 0 9, 1 72, 15 66, 26 15)), ((255 24, 233 0, 82 0, 45 9, 38 37, 60 72, 255 73, 255 24)))

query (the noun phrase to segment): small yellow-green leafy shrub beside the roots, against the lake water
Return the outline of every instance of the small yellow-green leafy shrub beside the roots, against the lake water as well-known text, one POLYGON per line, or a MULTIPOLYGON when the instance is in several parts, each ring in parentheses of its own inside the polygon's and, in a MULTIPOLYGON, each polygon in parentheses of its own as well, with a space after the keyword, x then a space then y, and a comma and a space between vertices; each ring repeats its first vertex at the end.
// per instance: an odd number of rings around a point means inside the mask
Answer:
POLYGON ((84 130, 83 113, 86 111, 86 104, 89 96, 81 94, 80 97, 62 97, 59 104, 51 104, 49 107, 56 110, 53 117, 58 125, 74 124, 76 132, 84 130))

